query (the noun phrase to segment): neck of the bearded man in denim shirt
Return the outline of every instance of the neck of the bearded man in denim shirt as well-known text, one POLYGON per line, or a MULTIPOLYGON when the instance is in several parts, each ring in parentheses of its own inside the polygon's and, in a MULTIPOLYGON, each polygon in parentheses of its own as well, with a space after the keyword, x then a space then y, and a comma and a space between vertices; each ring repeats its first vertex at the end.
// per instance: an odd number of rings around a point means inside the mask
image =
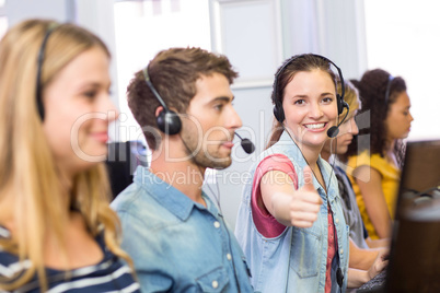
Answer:
POLYGON ((205 167, 199 167, 187 160, 182 148, 170 145, 167 150, 162 146, 153 151, 150 171, 155 176, 173 186, 195 202, 206 206, 201 197, 205 167))

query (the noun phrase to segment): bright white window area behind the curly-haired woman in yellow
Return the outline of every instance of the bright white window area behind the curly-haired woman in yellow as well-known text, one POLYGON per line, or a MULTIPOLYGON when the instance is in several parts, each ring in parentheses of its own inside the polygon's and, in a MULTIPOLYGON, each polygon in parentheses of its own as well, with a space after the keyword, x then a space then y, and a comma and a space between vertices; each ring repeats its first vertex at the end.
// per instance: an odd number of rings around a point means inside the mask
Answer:
POLYGON ((408 140, 440 139, 439 11, 437 0, 366 1, 368 69, 405 80, 414 117, 408 140))

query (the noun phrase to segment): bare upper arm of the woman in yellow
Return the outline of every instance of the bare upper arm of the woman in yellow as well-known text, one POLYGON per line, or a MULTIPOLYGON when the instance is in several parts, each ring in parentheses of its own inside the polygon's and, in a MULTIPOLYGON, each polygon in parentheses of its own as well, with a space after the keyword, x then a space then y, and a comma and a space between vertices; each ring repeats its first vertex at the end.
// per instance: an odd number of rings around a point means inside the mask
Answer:
POLYGON ((360 166, 355 169, 354 176, 359 186, 366 203, 367 213, 379 237, 390 236, 391 215, 389 213, 385 197, 382 190, 381 174, 369 166, 360 166), (370 178, 364 181, 358 178, 370 178))

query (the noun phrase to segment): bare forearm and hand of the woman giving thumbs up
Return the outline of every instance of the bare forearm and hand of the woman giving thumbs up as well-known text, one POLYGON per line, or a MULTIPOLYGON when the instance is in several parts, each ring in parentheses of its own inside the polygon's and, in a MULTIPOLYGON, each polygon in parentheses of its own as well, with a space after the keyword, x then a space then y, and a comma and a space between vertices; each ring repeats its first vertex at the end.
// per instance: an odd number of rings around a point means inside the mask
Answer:
POLYGON ((264 208, 286 226, 310 227, 317 219, 322 199, 313 187, 310 167, 304 168, 304 185, 296 190, 288 174, 267 172, 260 180, 264 208))

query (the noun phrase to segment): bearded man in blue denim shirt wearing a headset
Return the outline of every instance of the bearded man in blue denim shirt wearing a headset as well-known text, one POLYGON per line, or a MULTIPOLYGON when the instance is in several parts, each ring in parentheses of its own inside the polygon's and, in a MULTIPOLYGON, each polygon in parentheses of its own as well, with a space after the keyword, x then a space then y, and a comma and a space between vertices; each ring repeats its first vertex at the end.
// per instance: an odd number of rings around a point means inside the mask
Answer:
POLYGON ((201 190, 206 168, 231 164, 236 77, 224 56, 173 48, 128 85, 152 159, 112 207, 142 292, 253 292, 233 233, 201 190))

